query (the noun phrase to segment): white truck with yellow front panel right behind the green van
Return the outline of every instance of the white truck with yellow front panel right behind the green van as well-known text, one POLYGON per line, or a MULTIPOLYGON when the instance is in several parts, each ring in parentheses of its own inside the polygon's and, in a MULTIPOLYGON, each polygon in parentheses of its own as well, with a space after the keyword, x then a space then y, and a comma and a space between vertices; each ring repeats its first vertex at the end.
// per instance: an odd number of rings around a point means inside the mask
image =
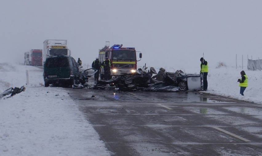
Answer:
POLYGON ((54 55, 71 55, 71 51, 67 48, 67 40, 45 40, 43 49, 43 65, 46 58, 54 55))

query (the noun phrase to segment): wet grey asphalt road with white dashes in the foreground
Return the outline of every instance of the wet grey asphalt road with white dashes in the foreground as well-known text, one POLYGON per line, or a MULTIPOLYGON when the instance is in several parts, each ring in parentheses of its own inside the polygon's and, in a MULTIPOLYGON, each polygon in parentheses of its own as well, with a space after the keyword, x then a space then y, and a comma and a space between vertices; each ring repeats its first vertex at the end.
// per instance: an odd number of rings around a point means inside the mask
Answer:
POLYGON ((199 92, 71 89, 113 155, 262 155, 262 106, 199 92))

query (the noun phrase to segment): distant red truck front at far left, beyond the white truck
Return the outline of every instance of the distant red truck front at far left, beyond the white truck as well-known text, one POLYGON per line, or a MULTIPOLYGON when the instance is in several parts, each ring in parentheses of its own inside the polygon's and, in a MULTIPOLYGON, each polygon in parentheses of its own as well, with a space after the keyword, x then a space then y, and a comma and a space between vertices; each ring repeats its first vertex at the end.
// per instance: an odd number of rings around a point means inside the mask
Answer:
POLYGON ((42 66, 42 49, 31 49, 29 55, 29 64, 33 66, 42 66))

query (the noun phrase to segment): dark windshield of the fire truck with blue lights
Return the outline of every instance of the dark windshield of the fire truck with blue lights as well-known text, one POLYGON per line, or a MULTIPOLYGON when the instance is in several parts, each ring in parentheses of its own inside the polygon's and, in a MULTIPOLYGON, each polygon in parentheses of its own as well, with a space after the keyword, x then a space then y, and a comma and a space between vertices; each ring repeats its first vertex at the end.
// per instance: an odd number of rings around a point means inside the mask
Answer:
POLYGON ((137 55, 134 50, 115 49, 112 53, 112 60, 136 61, 136 56, 137 55))

